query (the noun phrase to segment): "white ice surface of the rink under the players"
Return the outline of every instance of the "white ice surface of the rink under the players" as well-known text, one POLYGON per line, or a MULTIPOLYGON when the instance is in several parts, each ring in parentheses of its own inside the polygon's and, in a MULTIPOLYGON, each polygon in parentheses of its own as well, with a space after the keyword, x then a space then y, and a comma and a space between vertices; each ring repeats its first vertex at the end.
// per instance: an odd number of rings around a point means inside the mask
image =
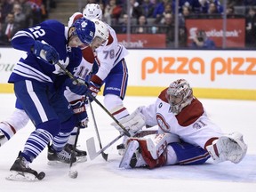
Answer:
MULTIPOLYGON (((102 102, 102 97, 97 97, 102 102)), ((124 105, 132 112, 140 105, 147 105, 156 100, 153 97, 126 97, 124 105)), ((0 121, 12 114, 15 96, 0 94, 0 121)), ((68 166, 52 166, 47 164, 46 149, 31 164, 37 172, 45 172, 44 180, 22 182, 5 180, 10 174, 16 156, 24 146, 34 126, 20 130, 12 140, 0 148, 0 191, 31 191, 31 192, 255 192, 256 190, 256 101, 247 100, 202 100, 212 121, 218 124, 223 132, 242 132, 248 144, 248 153, 240 164, 229 162, 195 166, 166 166, 154 170, 118 168, 121 156, 117 155, 116 145, 108 148, 108 162, 101 156, 83 164, 75 164, 78 177, 68 177, 68 166)), ((118 132, 110 126, 112 119, 96 103, 92 103, 100 139, 103 147, 116 138, 118 132)), ((86 150, 86 140, 95 137, 97 150, 99 143, 94 131, 92 116, 89 128, 81 131, 79 148, 86 150)))

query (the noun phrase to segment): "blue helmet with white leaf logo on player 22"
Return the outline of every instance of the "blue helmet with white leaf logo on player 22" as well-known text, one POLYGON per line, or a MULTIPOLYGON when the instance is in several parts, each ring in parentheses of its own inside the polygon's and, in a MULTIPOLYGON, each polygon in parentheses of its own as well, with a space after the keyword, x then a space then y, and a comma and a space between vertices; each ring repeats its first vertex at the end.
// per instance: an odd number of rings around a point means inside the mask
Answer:
POLYGON ((92 43, 95 34, 95 24, 92 20, 80 18, 73 23, 72 27, 76 28, 72 35, 78 36, 83 44, 92 43))

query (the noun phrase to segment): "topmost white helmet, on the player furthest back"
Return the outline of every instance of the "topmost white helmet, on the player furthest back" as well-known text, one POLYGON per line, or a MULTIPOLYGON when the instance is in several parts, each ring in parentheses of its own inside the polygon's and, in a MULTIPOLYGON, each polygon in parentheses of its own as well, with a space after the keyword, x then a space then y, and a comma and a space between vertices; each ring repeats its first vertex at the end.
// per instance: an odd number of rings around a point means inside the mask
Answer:
POLYGON ((87 20, 102 20, 102 11, 100 9, 100 4, 86 4, 86 6, 84 7, 83 16, 87 20))

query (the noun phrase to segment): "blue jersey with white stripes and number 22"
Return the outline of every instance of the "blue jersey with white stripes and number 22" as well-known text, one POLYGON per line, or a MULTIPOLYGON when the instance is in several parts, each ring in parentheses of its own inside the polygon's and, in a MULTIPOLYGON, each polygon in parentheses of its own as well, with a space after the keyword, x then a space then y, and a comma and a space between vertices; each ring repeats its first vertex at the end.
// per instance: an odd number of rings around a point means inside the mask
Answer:
POLYGON ((27 52, 27 56, 20 58, 9 77, 9 83, 31 79, 51 84, 56 74, 60 73, 57 65, 40 60, 31 52, 31 46, 36 40, 51 44, 59 53, 60 64, 68 66, 70 72, 73 72, 82 60, 81 50, 68 46, 68 28, 57 20, 46 20, 34 28, 22 29, 12 37, 13 48, 27 52))

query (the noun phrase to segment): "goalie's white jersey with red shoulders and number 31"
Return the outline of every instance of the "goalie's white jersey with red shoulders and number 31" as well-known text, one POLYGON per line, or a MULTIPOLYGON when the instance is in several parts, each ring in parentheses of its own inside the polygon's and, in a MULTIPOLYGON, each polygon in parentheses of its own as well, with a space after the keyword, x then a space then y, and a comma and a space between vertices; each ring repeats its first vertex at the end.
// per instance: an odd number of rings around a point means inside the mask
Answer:
POLYGON ((166 90, 167 88, 161 92, 155 103, 140 107, 142 114, 146 116, 146 124, 158 125, 159 132, 177 134, 181 140, 201 148, 204 148, 208 140, 223 135, 220 128, 211 122, 202 103, 196 98, 175 116, 165 98, 166 90))

